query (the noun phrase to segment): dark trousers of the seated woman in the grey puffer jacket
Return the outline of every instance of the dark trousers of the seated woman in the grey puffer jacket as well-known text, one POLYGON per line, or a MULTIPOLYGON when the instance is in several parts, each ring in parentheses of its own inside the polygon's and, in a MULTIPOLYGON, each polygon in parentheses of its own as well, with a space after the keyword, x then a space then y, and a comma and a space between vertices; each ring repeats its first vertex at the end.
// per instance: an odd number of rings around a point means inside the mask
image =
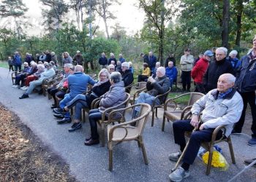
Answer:
POLYGON ((89 122, 91 126, 91 138, 94 140, 99 139, 99 134, 97 131, 97 121, 99 119, 102 119, 102 113, 99 112, 99 108, 91 109, 89 111, 89 122))

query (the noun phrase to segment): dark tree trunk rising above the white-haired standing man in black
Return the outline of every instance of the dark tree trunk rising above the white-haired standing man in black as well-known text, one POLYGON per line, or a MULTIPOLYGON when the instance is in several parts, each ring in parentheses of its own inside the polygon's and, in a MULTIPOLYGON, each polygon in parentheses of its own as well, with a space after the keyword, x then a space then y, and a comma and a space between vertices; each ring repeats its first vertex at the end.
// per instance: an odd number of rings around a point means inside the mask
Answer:
POLYGON ((228 24, 230 20, 230 0, 224 0, 222 14, 222 46, 228 48, 228 24))

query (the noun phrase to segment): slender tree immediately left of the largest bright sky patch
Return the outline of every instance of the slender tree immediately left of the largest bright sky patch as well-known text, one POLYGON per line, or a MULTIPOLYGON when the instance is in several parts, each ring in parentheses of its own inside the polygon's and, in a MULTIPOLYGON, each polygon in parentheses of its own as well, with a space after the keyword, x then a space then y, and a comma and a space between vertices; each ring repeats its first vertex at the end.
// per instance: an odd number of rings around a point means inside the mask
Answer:
POLYGON ((108 20, 116 19, 113 13, 110 12, 110 6, 112 6, 113 4, 120 4, 120 3, 118 2, 118 0, 96 0, 95 2, 97 4, 97 6, 95 7, 95 10, 97 11, 98 15, 102 17, 104 21, 105 31, 109 39, 110 35, 108 32, 108 20))

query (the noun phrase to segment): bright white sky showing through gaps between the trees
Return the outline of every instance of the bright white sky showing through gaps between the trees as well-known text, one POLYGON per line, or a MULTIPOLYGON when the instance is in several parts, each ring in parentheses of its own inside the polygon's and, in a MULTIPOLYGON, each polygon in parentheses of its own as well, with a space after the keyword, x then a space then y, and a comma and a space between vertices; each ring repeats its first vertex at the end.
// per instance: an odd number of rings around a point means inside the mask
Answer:
MULTIPOLYGON (((42 3, 39 3, 39 0, 23 0, 23 2, 26 4, 26 7, 29 8, 28 12, 26 12, 26 16, 29 17, 29 22, 34 25, 34 28, 27 30, 27 33, 31 36, 37 36, 43 33, 41 9, 44 6, 42 3)), ((109 32, 111 33, 111 25, 119 23, 125 28, 127 34, 133 35, 143 26, 144 12, 134 6, 136 0, 119 0, 119 2, 121 2, 121 5, 110 8, 117 18, 116 20, 108 22, 109 32)), ((69 14, 71 14, 69 17, 73 16, 75 19, 75 12, 69 12, 69 14)), ((105 31, 105 24, 101 18, 97 17, 95 23, 99 24, 100 31, 105 31)))

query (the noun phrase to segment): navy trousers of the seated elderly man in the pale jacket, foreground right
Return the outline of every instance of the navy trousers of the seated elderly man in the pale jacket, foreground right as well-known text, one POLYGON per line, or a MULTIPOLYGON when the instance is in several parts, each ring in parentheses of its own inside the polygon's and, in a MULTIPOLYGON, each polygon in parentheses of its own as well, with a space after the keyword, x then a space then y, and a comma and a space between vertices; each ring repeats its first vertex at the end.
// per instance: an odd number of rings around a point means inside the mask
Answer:
MULTIPOLYGON (((194 127, 190 124, 191 119, 188 120, 178 120, 173 122, 173 134, 174 134, 174 141, 179 146, 181 146, 181 151, 186 146, 185 140, 185 131, 192 131, 194 127)), ((189 145, 187 146, 187 151, 184 154, 183 162, 189 165, 192 165, 195 161, 195 157, 197 157, 197 153, 200 149, 201 142, 208 142, 211 141, 211 135, 214 132, 214 128, 198 130, 192 132, 189 145)), ((217 140, 222 137, 222 131, 217 133, 217 140)))

